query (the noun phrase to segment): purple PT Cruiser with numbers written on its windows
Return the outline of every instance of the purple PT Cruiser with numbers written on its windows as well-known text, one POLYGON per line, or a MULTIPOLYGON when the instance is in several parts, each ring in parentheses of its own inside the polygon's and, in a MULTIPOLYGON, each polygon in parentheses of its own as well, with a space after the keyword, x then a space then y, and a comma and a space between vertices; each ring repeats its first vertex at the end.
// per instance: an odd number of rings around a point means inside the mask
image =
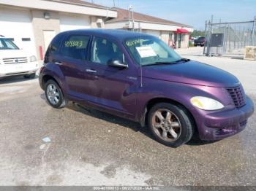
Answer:
POLYGON ((227 71, 181 58, 148 34, 76 30, 58 34, 45 54, 39 84, 54 108, 68 101, 148 126, 170 147, 233 136, 254 112, 227 71))

